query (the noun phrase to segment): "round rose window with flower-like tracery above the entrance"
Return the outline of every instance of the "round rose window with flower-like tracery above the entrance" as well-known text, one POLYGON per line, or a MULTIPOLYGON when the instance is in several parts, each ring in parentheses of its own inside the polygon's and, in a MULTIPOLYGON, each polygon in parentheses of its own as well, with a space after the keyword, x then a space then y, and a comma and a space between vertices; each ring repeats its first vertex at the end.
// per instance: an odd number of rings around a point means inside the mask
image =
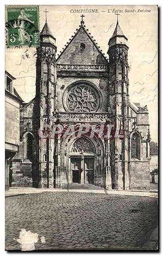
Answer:
POLYGON ((72 112, 96 112, 99 108, 99 97, 89 85, 76 85, 67 96, 67 106, 72 112))

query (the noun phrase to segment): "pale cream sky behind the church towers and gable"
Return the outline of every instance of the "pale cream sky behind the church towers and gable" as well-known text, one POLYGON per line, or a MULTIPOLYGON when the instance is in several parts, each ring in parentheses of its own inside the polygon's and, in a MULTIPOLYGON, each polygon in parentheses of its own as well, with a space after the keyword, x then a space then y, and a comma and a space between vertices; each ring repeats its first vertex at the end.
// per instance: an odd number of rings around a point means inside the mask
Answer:
MULTIPOLYGON (((76 10, 97 9, 84 13, 86 29, 101 47, 108 51, 117 21, 128 38, 130 102, 147 105, 153 141, 158 142, 158 9, 155 5, 40 5, 40 30, 47 23, 56 38, 57 54, 62 51, 76 29, 82 13, 76 10), (108 11, 109 9, 109 11, 108 11), (150 10, 150 12, 149 12, 150 10), (147 12, 148 11, 148 12, 147 12)), ((14 86, 24 102, 35 97, 36 48, 5 49, 5 69, 16 78, 14 86)))

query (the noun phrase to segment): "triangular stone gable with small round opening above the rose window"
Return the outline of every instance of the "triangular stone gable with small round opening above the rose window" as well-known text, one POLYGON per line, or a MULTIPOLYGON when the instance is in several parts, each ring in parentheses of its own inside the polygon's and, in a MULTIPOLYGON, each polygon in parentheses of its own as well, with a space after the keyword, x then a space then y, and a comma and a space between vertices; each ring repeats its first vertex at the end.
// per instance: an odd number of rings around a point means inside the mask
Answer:
POLYGON ((95 41, 85 26, 80 26, 72 37, 64 51, 59 55, 57 64, 68 65, 96 65, 108 64, 103 53, 99 50, 95 41))

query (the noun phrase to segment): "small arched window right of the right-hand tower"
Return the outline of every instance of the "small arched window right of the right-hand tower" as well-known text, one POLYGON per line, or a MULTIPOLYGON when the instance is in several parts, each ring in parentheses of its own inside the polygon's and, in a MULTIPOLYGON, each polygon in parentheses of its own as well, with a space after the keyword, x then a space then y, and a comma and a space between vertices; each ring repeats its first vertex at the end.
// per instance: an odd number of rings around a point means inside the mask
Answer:
POLYGON ((137 133, 131 137, 131 158, 140 160, 140 136, 137 133))

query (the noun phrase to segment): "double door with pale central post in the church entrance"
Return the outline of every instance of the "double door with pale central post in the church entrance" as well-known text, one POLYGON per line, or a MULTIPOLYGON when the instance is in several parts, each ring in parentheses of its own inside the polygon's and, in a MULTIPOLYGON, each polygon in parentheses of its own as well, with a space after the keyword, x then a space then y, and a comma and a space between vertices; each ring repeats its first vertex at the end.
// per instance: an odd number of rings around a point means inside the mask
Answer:
POLYGON ((93 184, 94 180, 94 158, 74 157, 71 158, 72 183, 93 184))

